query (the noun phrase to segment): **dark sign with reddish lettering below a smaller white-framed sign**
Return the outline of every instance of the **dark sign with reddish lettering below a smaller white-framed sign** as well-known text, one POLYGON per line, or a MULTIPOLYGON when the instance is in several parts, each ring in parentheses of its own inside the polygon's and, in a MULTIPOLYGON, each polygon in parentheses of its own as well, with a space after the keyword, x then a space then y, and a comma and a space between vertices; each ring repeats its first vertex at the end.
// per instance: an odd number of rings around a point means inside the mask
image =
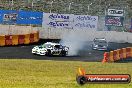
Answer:
POLYGON ((105 25, 106 26, 118 26, 118 27, 122 27, 123 26, 123 20, 124 20, 124 17, 106 16, 105 17, 105 25))

